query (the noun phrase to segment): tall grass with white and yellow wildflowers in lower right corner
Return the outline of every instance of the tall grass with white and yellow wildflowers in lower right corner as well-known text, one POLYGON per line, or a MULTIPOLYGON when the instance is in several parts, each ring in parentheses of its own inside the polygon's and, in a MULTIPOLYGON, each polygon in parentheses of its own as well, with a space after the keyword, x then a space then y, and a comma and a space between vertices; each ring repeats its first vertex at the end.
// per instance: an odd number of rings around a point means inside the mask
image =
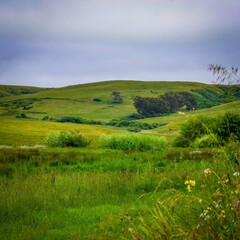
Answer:
POLYGON ((134 239, 239 239, 239 158, 234 163, 225 156, 185 175, 184 192, 165 191, 148 214, 130 224, 134 239))

